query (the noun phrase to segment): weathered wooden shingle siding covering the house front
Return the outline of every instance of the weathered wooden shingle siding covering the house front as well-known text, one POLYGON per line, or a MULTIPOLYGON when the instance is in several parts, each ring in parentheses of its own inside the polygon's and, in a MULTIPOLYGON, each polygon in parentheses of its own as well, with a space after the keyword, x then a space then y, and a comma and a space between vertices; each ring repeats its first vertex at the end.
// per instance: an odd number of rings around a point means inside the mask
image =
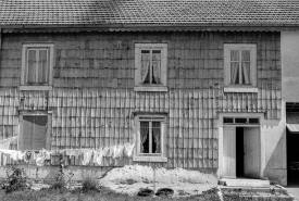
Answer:
MULTIPOLYGON (((281 118, 279 33, 68 33, 2 37, 0 139, 18 134, 18 111, 39 110, 52 111, 54 150, 113 146, 133 140, 134 112, 163 112, 167 113, 169 161, 157 165, 217 168, 217 112, 264 112, 267 120, 281 118), (33 41, 54 43, 52 91, 18 90, 22 42, 33 41), (135 42, 167 42, 167 92, 134 91, 135 42), (223 92, 225 42, 257 43, 258 93, 223 92)), ((58 164, 58 158, 53 156, 51 164, 58 164)), ((80 160, 71 159, 70 164, 80 165, 80 160)), ((103 166, 124 164, 133 161, 107 158, 103 166)))

